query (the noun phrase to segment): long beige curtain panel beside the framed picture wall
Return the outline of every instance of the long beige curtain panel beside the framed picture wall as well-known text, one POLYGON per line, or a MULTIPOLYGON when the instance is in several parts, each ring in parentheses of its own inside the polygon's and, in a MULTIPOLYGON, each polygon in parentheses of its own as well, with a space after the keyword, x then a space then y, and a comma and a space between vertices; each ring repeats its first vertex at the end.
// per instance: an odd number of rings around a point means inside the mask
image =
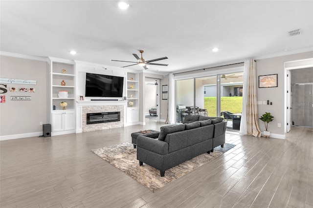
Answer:
POLYGON ((246 97, 246 132, 247 135, 252 135, 255 137, 261 136, 261 131, 259 128, 259 118, 258 118, 258 108, 257 108, 257 98, 256 98, 256 62, 254 59, 249 60, 249 75, 247 83, 247 97, 246 97))

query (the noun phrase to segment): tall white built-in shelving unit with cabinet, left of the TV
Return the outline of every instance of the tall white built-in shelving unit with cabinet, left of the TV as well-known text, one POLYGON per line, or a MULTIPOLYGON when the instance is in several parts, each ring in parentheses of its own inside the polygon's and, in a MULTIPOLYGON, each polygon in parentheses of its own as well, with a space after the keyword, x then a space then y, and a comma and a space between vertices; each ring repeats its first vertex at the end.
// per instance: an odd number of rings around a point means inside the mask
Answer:
POLYGON ((51 135, 75 132, 75 62, 49 58, 50 64, 50 122, 51 135), (59 96, 67 91, 68 97, 59 96), (60 105, 67 102, 66 109, 60 105))

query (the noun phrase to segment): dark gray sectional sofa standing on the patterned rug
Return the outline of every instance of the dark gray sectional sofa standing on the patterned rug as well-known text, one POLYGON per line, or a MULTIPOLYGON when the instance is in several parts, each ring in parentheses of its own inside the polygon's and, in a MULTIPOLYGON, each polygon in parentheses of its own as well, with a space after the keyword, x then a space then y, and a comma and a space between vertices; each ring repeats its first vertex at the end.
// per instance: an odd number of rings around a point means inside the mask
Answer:
POLYGON ((220 117, 186 115, 183 124, 166 125, 160 129, 158 139, 137 137, 137 160, 160 170, 177 166, 214 147, 224 146, 226 122, 220 117))

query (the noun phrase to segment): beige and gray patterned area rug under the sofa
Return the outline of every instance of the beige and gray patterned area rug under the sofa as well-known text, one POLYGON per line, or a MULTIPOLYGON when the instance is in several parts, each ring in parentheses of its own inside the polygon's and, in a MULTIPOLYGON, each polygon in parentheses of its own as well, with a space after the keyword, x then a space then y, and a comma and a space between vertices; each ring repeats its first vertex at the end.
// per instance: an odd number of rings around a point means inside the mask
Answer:
POLYGON ((235 145, 224 144, 223 148, 220 146, 215 147, 213 153, 201 154, 189 161, 166 170, 164 177, 161 177, 159 170, 152 166, 146 164, 139 166, 139 162, 137 160, 137 149, 134 149, 134 146, 131 143, 107 146, 99 149, 92 149, 91 151, 110 163, 112 166, 115 166, 129 175, 143 186, 155 192, 194 169, 222 155, 234 146, 235 145))

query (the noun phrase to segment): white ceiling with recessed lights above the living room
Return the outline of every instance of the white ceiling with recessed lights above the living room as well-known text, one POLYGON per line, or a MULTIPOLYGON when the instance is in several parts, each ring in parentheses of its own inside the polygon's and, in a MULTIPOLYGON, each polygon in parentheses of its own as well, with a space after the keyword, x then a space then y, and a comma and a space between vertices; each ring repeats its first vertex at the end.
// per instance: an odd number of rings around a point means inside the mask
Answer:
POLYGON ((167 56, 148 69, 166 73, 313 50, 313 0, 128 2, 1 0, 0 51, 121 67, 111 60, 135 62, 142 49, 145 60, 167 56))

